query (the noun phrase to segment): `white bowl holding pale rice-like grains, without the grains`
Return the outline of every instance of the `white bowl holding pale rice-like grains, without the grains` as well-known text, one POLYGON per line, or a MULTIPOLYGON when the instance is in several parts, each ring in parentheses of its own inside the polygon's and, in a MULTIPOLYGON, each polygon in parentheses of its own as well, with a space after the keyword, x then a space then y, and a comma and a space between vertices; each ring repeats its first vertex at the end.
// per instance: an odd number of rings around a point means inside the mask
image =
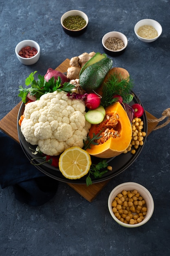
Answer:
POLYGON ((136 34, 137 38, 139 38, 141 41, 143 41, 145 43, 151 43, 151 42, 157 40, 157 38, 159 38, 159 36, 161 36, 162 27, 159 24, 159 22, 157 22, 156 20, 144 19, 144 20, 139 20, 137 22, 137 24, 135 25, 134 31, 135 31, 135 34, 136 34), (150 25, 150 26, 154 27, 158 32, 158 36, 155 37, 155 38, 152 38, 152 39, 147 39, 147 38, 143 38, 143 37, 139 36, 137 34, 137 31, 138 31, 139 27, 144 26, 144 25, 150 25))

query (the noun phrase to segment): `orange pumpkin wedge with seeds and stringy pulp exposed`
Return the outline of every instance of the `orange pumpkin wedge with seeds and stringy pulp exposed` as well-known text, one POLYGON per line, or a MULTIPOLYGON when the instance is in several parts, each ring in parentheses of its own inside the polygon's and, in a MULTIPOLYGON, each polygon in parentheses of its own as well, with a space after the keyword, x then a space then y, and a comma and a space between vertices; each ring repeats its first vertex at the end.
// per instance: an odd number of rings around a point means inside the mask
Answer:
POLYGON ((93 134, 100 131, 102 136, 91 144, 91 148, 86 151, 95 157, 110 158, 120 155, 128 148, 132 139, 132 126, 126 111, 119 102, 106 108, 104 121, 98 125, 92 125, 88 135, 92 138, 93 134))

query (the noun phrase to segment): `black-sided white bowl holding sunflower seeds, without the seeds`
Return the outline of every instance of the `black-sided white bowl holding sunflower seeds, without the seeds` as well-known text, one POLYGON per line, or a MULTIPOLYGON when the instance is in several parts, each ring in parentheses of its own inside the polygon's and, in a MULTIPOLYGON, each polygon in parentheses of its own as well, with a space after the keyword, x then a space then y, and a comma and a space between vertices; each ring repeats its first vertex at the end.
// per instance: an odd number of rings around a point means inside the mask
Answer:
POLYGON ((118 32, 118 31, 110 31, 108 32, 107 34, 105 34, 102 38, 102 45, 103 45, 103 48, 104 48, 104 51, 106 52, 106 54, 110 55, 110 56, 119 56, 121 54, 124 53, 124 51, 126 50, 126 47, 128 45, 128 39, 127 37, 122 34, 121 32, 118 32), (124 42, 124 47, 119 49, 119 50, 110 50, 108 49, 104 43, 105 41, 109 38, 109 37, 117 37, 119 39, 121 39, 123 42, 124 42))

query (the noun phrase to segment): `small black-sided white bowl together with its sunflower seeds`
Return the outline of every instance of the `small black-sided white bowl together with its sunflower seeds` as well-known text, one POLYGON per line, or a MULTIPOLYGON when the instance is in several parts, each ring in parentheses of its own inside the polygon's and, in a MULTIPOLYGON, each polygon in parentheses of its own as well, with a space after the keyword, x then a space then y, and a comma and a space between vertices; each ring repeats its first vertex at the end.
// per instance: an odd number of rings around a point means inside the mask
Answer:
POLYGON ((128 39, 121 32, 111 31, 103 36, 102 45, 106 54, 119 56, 126 50, 128 39))

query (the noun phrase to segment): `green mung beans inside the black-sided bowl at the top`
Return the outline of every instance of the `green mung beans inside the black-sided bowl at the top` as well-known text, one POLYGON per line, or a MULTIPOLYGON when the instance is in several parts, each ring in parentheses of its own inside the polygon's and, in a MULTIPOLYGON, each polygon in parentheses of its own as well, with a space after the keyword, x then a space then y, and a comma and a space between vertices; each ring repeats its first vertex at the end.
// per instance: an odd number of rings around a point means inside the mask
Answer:
POLYGON ((68 16, 63 21, 64 27, 71 30, 82 29, 86 25, 86 20, 81 16, 68 16))

